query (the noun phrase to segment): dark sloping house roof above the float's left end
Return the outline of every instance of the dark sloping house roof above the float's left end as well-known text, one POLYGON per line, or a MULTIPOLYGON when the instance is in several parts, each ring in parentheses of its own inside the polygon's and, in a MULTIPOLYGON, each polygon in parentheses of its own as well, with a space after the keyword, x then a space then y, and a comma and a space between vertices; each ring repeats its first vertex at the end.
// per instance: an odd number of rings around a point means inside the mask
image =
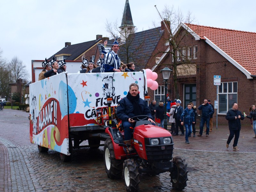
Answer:
MULTIPOLYGON (((68 54, 69 56, 66 58, 66 60, 76 60, 77 57, 82 55, 85 51, 90 49, 93 45, 98 44, 99 42, 100 40, 92 40, 84 43, 69 45, 62 48, 54 55, 68 54)), ((50 59, 52 59, 52 57, 50 57, 48 60, 50 59)))

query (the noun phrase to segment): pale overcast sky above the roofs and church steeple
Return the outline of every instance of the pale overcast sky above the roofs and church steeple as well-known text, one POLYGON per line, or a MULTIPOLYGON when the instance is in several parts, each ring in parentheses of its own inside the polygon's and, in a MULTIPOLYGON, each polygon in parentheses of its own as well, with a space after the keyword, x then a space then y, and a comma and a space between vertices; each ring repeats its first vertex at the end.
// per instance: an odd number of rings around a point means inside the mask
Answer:
MULTIPOLYGON (((165 5, 188 11, 195 24, 256 32, 255 0, 129 0, 137 31, 160 26, 165 5)), ((17 56, 27 66, 31 60, 49 58, 65 46, 109 37, 106 20, 121 24, 125 0, 0 0, 0 48, 10 61, 17 56)), ((68 71, 68 69, 67 69, 68 71)))

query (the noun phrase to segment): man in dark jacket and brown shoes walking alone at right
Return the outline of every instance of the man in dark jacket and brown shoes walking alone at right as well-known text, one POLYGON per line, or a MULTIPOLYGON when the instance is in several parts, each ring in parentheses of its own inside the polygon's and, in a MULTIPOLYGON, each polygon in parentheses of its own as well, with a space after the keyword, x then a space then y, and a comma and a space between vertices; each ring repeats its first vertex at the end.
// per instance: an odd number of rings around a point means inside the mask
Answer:
POLYGON ((229 110, 226 115, 226 119, 228 120, 228 128, 229 128, 229 136, 228 136, 226 148, 228 148, 229 143, 231 142, 231 140, 233 139, 233 137, 235 135, 235 139, 234 139, 234 143, 233 143, 234 151, 239 151, 239 149, 237 148, 237 142, 238 142, 239 134, 240 134, 240 130, 241 130, 241 121, 240 120, 244 120, 244 116, 242 116, 242 113, 240 111, 238 111, 237 109, 238 109, 237 103, 233 103, 232 109, 229 110))

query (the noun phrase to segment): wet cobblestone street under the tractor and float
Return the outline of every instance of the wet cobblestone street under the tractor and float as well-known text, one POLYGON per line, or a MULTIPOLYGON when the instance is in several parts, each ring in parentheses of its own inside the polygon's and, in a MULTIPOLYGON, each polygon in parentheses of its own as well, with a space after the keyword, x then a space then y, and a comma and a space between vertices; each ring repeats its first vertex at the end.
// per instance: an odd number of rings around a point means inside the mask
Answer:
MULTIPOLYGON (((110 180, 105 172, 103 148, 75 149, 73 161, 62 163, 58 152, 39 153, 29 141, 28 113, 0 112, 0 191, 125 191, 124 180, 110 180)), ((188 182, 183 191, 255 191, 256 139, 242 125, 238 148, 225 147, 228 126, 219 125, 209 137, 173 136, 174 156, 186 159, 188 182)), ((193 134, 192 134, 193 135, 193 134)), ((176 191, 169 173, 140 175, 139 191, 176 191)))

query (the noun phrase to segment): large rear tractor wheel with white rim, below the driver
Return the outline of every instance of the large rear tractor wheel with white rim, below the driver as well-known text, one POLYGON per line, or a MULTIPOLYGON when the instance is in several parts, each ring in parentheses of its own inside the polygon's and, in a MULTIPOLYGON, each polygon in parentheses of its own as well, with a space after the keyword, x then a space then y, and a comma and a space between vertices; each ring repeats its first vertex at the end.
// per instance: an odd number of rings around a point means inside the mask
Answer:
POLYGON ((111 139, 105 141, 103 157, 108 178, 119 179, 122 177, 123 161, 116 159, 111 139))

